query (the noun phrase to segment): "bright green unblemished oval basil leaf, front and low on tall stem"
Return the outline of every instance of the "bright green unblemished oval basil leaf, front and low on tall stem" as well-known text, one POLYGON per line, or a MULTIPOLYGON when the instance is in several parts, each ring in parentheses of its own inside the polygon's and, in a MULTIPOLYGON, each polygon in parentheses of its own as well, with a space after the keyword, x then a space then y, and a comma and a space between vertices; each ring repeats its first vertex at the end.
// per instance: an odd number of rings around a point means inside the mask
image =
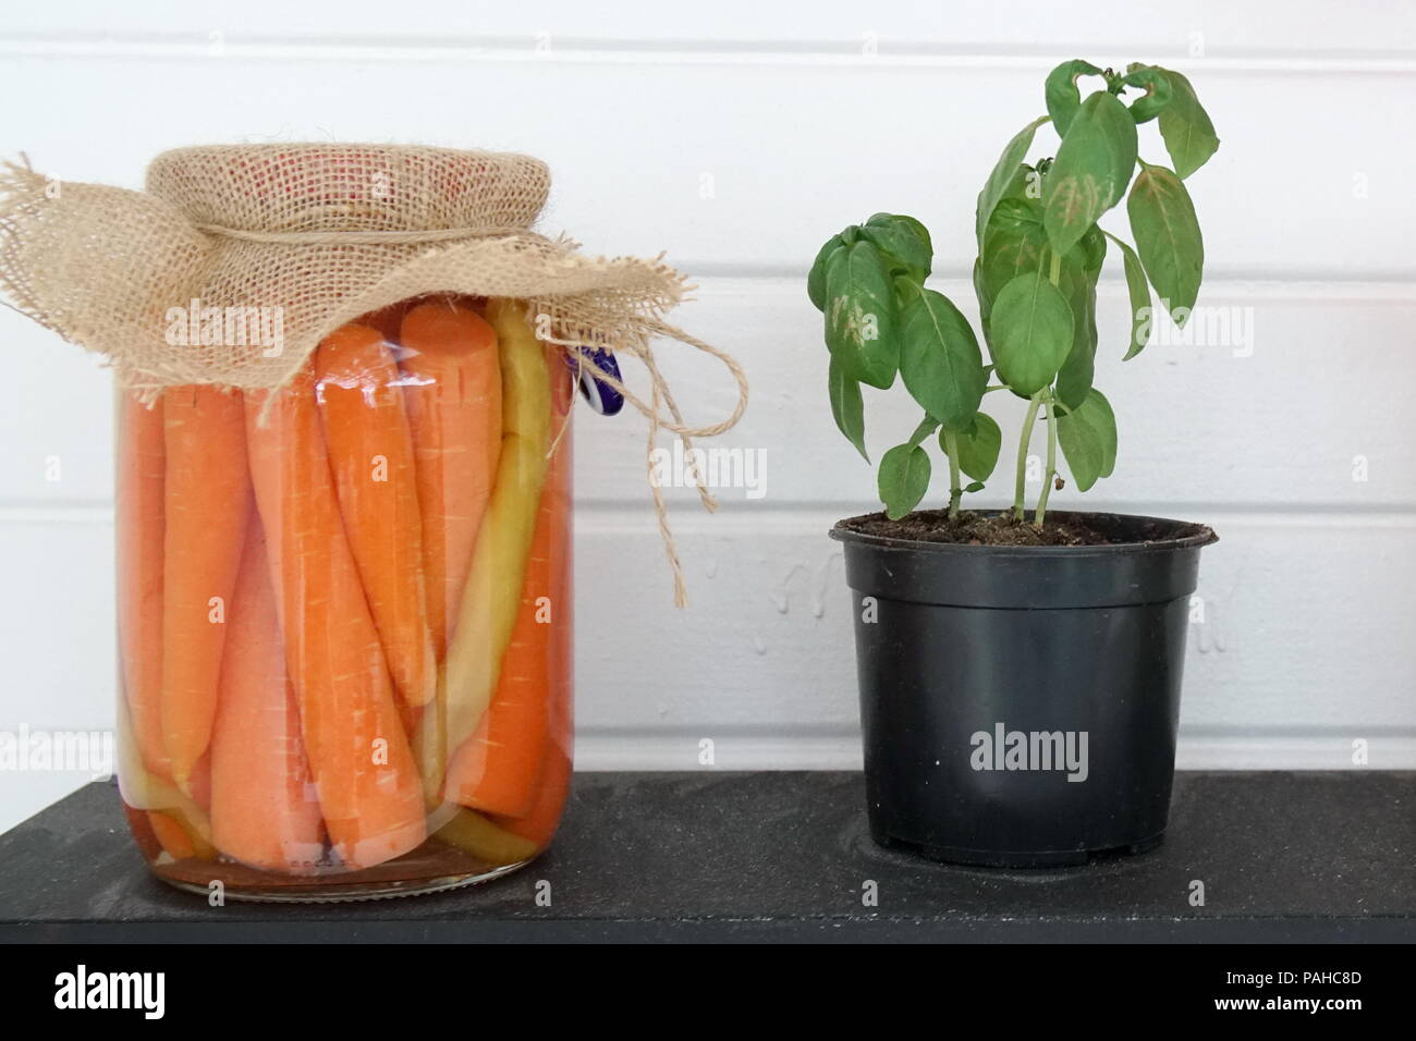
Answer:
POLYGON ((1072 350, 1072 307, 1041 271, 1018 275, 998 292, 988 324, 998 378, 1022 397, 1052 382, 1072 350))

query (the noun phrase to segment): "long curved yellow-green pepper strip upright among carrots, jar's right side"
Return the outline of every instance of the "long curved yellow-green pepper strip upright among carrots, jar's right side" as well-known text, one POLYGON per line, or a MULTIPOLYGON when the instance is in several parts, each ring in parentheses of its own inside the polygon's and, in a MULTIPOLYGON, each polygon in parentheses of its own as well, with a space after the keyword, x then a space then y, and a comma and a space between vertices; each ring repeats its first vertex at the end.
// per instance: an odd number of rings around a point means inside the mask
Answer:
POLYGON ((544 347, 527 317, 517 300, 487 305, 501 363, 501 462, 477 530, 457 629, 439 674, 438 704, 423 714, 415 741, 430 803, 442 797, 449 752, 473 735, 496 693, 501 654, 511 643, 521 608, 541 487, 549 469, 551 378, 544 347))

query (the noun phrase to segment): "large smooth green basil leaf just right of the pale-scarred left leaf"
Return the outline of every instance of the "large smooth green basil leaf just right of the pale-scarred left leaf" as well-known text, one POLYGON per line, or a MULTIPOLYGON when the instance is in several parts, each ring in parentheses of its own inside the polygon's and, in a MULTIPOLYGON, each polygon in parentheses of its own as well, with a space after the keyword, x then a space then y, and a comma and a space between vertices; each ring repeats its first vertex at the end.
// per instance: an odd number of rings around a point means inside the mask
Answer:
POLYGON ((915 401, 943 423, 978 411, 986 377, 983 353, 953 302, 920 290, 901 322, 899 374, 915 401))

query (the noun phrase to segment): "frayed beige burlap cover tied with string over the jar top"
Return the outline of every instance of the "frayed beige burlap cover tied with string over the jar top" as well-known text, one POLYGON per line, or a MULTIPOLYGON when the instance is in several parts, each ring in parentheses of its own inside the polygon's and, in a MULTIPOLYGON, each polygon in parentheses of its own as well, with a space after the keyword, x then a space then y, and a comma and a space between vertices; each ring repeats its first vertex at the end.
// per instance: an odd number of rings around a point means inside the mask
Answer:
MULTIPOLYGON (((54 181, 6 164, 0 174, 0 288, 65 340, 103 354, 122 387, 282 387, 330 331, 426 293, 525 299, 542 340, 578 363, 578 346, 633 354, 658 431, 688 442, 729 429, 746 406, 739 365, 664 323, 688 286, 658 259, 593 258, 531 231, 549 191, 530 156, 387 144, 235 144, 164 152, 147 190, 54 181), (283 348, 174 346, 173 307, 280 307, 283 348), (719 358, 738 382, 722 422, 687 426, 650 341, 664 336, 719 358)), ((685 443, 685 448, 688 445, 685 443)), ((653 469, 653 465, 651 465, 653 469)), ((684 582, 651 480, 660 531, 684 582)), ((700 496, 715 503, 700 480, 700 496)))

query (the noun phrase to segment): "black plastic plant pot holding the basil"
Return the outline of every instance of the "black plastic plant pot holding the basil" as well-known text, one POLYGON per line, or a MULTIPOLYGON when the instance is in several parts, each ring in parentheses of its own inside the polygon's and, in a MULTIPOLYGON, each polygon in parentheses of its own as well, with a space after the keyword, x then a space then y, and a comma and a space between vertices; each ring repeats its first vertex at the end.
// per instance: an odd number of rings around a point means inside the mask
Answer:
POLYGON ((865 787, 882 846, 1044 867, 1161 840, 1189 596, 1216 535, 1155 517, 1054 517, 1117 544, 953 545, 833 528, 854 592, 865 787))

